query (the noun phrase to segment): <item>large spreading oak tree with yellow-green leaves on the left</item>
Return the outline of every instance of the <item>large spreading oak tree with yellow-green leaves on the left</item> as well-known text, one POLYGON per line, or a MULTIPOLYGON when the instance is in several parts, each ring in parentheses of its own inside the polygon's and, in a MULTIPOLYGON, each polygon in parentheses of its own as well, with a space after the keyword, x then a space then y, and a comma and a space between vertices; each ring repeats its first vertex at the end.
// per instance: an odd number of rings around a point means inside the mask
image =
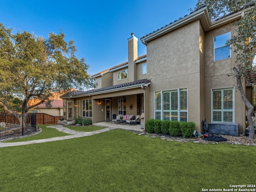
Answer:
POLYGON ((50 33, 48 38, 27 31, 12 34, 0 23, 0 106, 13 113, 10 98, 22 98, 22 112, 47 101, 53 92, 93 85, 84 58, 76 58, 74 41, 50 33), (36 98, 38 102, 27 106, 36 98))

